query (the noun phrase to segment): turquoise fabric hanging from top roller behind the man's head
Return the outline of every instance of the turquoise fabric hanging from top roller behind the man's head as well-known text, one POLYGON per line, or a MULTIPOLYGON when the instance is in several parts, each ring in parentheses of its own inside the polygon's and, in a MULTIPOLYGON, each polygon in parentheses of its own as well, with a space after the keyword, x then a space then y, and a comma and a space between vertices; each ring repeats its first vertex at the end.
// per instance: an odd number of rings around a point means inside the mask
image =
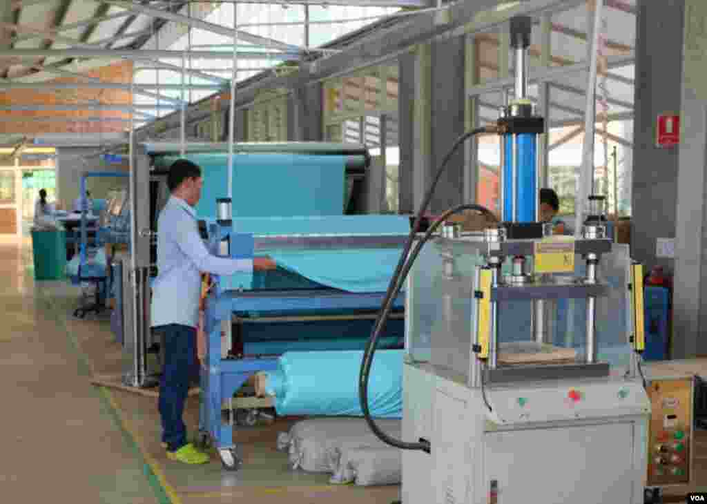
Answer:
MULTIPOLYGON (((228 197, 228 154, 192 154, 204 186, 200 218, 216 218, 216 199, 228 197)), ((168 164, 177 158, 168 158, 168 164)), ((231 215, 329 216, 344 213, 346 156, 236 154, 231 215)))

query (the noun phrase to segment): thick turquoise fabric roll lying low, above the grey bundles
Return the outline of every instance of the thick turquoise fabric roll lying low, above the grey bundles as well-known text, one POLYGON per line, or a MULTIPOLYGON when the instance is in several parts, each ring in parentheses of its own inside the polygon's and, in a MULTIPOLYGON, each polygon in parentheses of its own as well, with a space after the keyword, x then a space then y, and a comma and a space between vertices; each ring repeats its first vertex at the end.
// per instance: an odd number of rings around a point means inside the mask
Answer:
MULTIPOLYGON (((402 417, 402 350, 377 351, 368 406, 377 418, 402 417)), ((292 352, 269 372, 269 394, 279 415, 363 416, 358 404, 362 351, 292 352)))

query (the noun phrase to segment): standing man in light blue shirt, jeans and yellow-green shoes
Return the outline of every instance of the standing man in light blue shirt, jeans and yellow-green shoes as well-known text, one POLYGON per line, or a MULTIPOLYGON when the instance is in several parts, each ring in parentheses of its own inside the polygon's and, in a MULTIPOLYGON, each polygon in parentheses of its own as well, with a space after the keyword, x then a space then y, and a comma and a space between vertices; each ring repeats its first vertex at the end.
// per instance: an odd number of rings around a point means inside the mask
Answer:
POLYGON ((182 420, 196 351, 201 273, 232 275, 275 267, 269 258, 224 259, 209 254, 194 211, 201 184, 201 168, 183 159, 173 163, 167 177, 171 196, 157 223, 158 276, 152 286, 151 325, 165 344, 159 397, 162 441, 168 458, 185 464, 209 462, 209 455, 187 443, 182 420))

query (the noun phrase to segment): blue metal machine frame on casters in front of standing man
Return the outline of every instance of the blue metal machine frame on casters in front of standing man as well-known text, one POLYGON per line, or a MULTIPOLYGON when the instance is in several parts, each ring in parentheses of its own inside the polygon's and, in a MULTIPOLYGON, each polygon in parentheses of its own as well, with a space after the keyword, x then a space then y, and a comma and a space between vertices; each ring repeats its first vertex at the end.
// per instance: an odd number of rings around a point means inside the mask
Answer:
MULTIPOLYGON (((231 257, 253 257, 255 250, 262 250, 265 243, 268 243, 268 238, 262 240, 262 246, 258 246, 258 238, 253 238, 252 235, 230 234, 230 230, 218 226, 216 237, 212 226, 209 247, 212 253, 218 250, 218 241, 225 238, 227 235, 230 238, 232 247, 230 249, 231 257), (218 240, 214 240, 218 238, 218 240), (235 240, 234 240, 235 238, 235 240), (238 242, 238 245, 235 244, 238 242), (250 251, 244 250, 250 246, 250 251), (250 245, 248 245, 250 244, 250 245), (235 248, 240 247, 236 252, 235 248), (249 253, 250 252, 250 253, 249 253)), ((369 235, 367 237, 356 237, 356 244, 361 246, 361 238, 367 239, 370 246, 378 241, 378 247, 391 247, 394 245, 402 246, 404 239, 407 236, 391 237, 376 237, 369 235)), ((312 238, 312 242, 321 244, 322 237, 318 235, 312 238)), ((306 248, 306 239, 297 238, 294 247, 306 248)), ((332 240, 336 247, 342 244, 341 236, 337 236, 332 240)), ((286 245, 285 245, 286 246, 286 245)), ((271 248, 271 242, 267 247, 271 248)), ((238 455, 235 453, 235 445, 233 443, 233 421, 228 423, 223 422, 221 411, 222 404, 233 398, 234 394, 242 387, 248 378, 260 371, 276 370, 278 365, 278 356, 245 356, 243 358, 222 358, 221 357, 221 338, 222 325, 230 324, 233 314, 238 312, 284 312, 297 313, 303 310, 370 310, 374 312, 380 309, 385 293, 350 293, 339 291, 334 288, 329 289, 304 289, 296 291, 287 290, 271 290, 271 291, 243 291, 243 290, 225 290, 221 286, 221 279, 214 278, 216 287, 212 288, 208 297, 206 306, 204 332, 208 337, 206 348, 205 363, 201 365, 201 399, 199 404, 199 440, 203 444, 213 441, 221 457, 226 469, 235 469, 238 466, 238 455)), ((401 309, 404 307, 404 294, 401 293, 395 300, 395 308, 401 309)))

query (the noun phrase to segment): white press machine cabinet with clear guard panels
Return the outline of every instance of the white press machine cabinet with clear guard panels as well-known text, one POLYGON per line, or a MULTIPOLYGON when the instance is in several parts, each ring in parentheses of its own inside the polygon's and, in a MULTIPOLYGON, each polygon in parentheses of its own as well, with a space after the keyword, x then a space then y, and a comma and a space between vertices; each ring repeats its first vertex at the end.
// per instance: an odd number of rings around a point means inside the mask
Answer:
MULTIPOLYGON (((547 372, 525 366, 523 379, 479 386, 472 291, 474 269, 486 259, 468 254, 463 240, 427 245, 409 276, 402 430, 404 440, 428 440, 431 454, 404 450, 402 503, 642 504, 650 401, 629 346, 628 251, 614 247, 600 269, 609 295, 597 302, 598 355, 611 361, 610 373, 583 373, 578 358, 566 373, 556 366, 554 379, 534 379, 547 372)), ((582 301, 564 309, 580 312, 582 301)), ((545 303, 544 341, 581 352, 576 317, 557 322, 556 301, 545 303)), ((503 333, 503 320, 517 320, 519 310, 522 303, 499 310, 499 341, 518 340, 508 337, 513 324, 503 333)))

